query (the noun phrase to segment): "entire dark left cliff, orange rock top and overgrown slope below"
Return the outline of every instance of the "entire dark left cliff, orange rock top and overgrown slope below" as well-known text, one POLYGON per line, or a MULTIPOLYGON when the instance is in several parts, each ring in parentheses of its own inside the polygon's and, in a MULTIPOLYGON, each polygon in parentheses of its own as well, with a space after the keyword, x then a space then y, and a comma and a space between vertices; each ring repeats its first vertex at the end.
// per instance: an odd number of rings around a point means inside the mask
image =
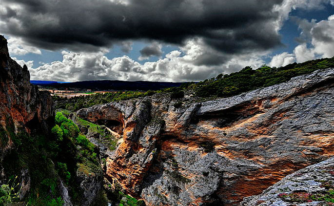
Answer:
POLYGON ((54 126, 51 95, 30 83, 26 65, 10 58, 0 36, 0 206, 98 204, 103 176, 97 154, 80 156, 75 137, 55 139, 54 126))

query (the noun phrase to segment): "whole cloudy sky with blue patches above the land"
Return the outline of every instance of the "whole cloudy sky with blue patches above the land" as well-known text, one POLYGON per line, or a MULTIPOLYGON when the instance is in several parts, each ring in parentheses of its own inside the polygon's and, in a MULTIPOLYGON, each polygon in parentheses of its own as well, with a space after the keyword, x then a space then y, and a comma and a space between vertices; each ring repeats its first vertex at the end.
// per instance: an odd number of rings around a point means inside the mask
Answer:
POLYGON ((334 56, 334 0, 0 0, 31 80, 191 82, 334 56))

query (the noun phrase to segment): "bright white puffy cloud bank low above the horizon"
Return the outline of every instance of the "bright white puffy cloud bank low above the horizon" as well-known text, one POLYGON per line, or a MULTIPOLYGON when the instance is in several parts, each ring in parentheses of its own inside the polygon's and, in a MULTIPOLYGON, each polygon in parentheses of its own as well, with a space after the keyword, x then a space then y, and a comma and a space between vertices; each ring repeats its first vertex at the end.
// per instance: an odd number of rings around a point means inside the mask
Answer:
MULTIPOLYGON (((125 80, 125 81, 162 81, 186 82, 200 81, 215 77, 220 73, 230 73, 242 67, 252 65, 254 68, 263 64, 259 54, 234 55, 230 60, 217 65, 199 64, 203 54, 211 50, 201 44, 202 41, 189 41, 180 50, 175 50, 157 62, 136 62, 128 56, 108 59, 107 51, 96 53, 75 53, 63 51, 63 60, 51 62, 30 69, 34 80, 49 81, 83 81, 83 80, 125 80), (184 56, 181 54, 184 53, 184 56)), ((215 57, 216 58, 216 57, 215 57)), ((205 59, 205 57, 204 57, 205 59)))

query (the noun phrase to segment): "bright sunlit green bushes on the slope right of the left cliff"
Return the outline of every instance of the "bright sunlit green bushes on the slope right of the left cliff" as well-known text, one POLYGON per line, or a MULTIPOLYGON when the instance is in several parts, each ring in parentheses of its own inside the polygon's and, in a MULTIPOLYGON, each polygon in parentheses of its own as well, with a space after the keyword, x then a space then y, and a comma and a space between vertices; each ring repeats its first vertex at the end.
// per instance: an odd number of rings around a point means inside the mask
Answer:
MULTIPOLYGON (((100 174, 97 148, 80 133, 79 127, 61 112, 55 117, 52 128, 54 141, 51 151, 58 162, 58 171, 64 180, 70 181, 77 169, 84 174, 100 174), (67 171, 68 170, 68 171, 67 171)), ((75 180, 73 180, 75 181, 75 180)))

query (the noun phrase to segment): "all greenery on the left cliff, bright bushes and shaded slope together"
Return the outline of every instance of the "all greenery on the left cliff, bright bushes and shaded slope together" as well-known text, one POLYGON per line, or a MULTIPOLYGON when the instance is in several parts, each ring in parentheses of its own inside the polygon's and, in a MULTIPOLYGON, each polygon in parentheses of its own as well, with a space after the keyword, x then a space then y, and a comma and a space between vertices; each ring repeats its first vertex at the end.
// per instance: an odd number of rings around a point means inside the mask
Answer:
POLYGON ((68 188, 72 203, 80 205, 82 177, 102 178, 97 148, 62 113, 57 113, 55 123, 47 137, 29 135, 23 130, 15 132, 11 118, 4 128, 0 127, 1 144, 9 138, 15 144, 15 149, 3 157, 1 165, 7 178, 0 181, 0 205, 19 201, 17 195, 22 193, 22 188, 17 184, 25 171, 26 178, 30 178, 30 189, 21 201, 27 206, 62 206, 60 179, 68 188), (15 177, 17 175, 19 178, 15 177))

